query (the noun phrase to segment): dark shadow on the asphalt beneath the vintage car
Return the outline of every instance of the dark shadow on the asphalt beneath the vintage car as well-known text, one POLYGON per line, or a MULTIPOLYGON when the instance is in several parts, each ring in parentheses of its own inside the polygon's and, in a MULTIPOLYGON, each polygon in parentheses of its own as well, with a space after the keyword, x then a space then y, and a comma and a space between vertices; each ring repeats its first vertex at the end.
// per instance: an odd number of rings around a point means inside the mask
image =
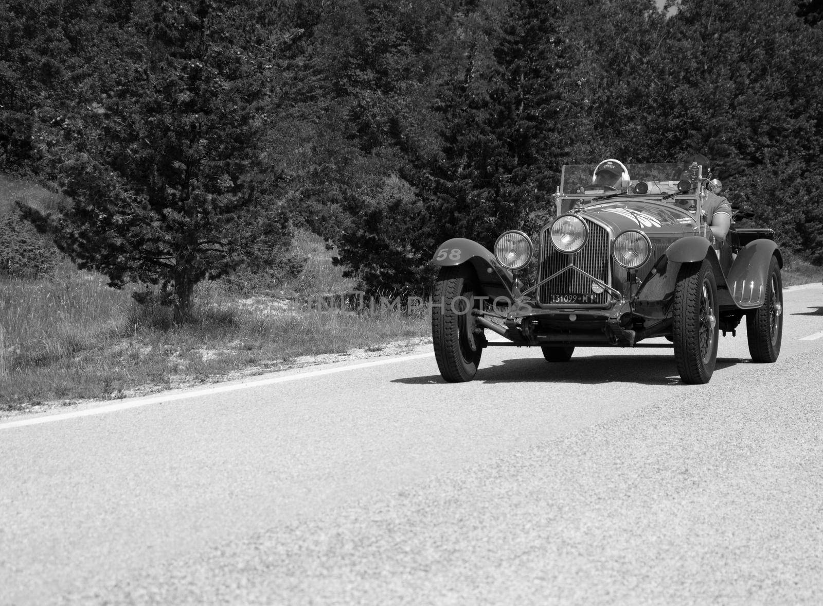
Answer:
MULTIPOLYGON (((749 364, 747 358, 718 357, 715 371, 737 364, 749 364)), ((504 360, 497 366, 483 367, 474 378, 483 383, 637 383, 642 385, 683 385, 677 373, 674 357, 670 355, 590 356, 572 358, 567 362, 547 362, 542 358, 504 360)), ((435 385, 445 383, 437 375, 405 377, 392 383, 406 385, 435 385)))

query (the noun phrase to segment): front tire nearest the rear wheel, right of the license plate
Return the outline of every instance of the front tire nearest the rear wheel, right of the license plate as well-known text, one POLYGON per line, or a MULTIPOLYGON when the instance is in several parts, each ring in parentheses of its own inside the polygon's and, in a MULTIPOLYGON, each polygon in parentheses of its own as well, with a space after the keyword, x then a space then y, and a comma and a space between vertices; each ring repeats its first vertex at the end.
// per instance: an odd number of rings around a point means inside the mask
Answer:
POLYGON ((709 261, 683 263, 672 311, 677 371, 684 383, 708 383, 718 357, 718 288, 709 261))

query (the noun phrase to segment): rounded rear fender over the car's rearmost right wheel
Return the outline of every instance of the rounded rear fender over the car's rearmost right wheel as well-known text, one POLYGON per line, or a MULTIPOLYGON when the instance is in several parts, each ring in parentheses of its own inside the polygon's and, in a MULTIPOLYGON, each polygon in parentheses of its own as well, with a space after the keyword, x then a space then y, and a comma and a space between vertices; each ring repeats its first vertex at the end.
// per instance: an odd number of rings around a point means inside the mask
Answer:
POLYGON ((777 257, 783 267, 783 255, 774 240, 752 240, 737 253, 728 271, 726 283, 732 301, 742 309, 763 305, 769 280, 769 265, 777 257))

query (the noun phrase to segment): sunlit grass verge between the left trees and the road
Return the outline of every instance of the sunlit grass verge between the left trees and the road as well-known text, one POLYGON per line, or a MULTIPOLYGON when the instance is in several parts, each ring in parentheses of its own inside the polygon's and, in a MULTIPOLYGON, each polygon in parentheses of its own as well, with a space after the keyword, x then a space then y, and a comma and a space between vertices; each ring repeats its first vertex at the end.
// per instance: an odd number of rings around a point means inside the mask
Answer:
POLYGON ((293 280, 263 296, 202 284, 192 321, 178 325, 169 310, 137 305, 131 291, 70 263, 49 279, 0 282, 0 413, 259 374, 304 356, 380 352, 398 342, 411 349, 429 335, 427 310, 309 307, 352 283, 316 236, 300 233, 293 252, 307 258, 293 280))

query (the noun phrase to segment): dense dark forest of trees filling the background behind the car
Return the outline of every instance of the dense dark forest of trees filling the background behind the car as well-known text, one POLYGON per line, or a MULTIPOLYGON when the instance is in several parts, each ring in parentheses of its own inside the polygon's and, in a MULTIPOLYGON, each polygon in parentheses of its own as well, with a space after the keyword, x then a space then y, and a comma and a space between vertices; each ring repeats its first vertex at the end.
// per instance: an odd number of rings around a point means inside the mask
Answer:
POLYGON ((709 156, 823 262, 819 0, 0 0, 0 169, 115 287, 192 289, 326 238, 364 286, 535 231, 567 163, 709 156))

